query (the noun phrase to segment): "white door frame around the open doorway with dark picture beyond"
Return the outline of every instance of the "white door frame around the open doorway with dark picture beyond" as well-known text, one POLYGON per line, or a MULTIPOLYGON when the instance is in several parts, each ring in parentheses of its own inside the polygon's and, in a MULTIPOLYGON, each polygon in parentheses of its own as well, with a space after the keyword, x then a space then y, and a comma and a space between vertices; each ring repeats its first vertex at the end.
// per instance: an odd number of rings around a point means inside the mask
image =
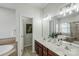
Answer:
MULTIPOLYGON (((18 25, 18 27, 19 27, 19 29, 17 29, 17 31, 19 31, 19 33, 18 33, 18 36, 19 37, 17 37, 17 40, 18 40, 18 42, 17 42, 17 50, 18 50, 18 56, 22 56, 23 55, 23 52, 21 53, 21 48, 20 48, 20 39, 21 39, 21 35, 20 35, 20 22, 23 20, 23 17, 27 17, 27 16, 19 16, 19 19, 18 19, 18 22, 19 22, 19 25, 18 25)), ((27 17, 27 18, 31 18, 31 17, 27 17)), ((32 18, 32 52, 34 51, 34 40, 33 40, 33 18, 32 18)), ((24 47, 23 47, 24 48, 24 47)))

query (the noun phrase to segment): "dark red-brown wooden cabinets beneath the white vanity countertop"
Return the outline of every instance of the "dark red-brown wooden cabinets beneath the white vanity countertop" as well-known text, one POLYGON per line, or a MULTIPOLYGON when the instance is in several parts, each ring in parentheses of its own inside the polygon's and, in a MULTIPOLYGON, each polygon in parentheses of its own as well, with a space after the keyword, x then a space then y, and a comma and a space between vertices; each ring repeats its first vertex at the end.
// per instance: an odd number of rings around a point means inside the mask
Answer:
POLYGON ((43 46, 36 40, 35 40, 35 51, 39 56, 58 56, 56 53, 49 50, 47 47, 43 46))

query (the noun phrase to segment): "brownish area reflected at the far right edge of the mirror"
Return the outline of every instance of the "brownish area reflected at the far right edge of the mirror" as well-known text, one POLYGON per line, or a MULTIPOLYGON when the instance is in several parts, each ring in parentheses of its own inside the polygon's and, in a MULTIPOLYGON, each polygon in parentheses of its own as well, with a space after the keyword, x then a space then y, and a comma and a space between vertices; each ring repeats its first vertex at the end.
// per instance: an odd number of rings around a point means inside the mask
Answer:
POLYGON ((79 22, 70 23, 71 37, 74 37, 76 41, 79 41, 79 22))

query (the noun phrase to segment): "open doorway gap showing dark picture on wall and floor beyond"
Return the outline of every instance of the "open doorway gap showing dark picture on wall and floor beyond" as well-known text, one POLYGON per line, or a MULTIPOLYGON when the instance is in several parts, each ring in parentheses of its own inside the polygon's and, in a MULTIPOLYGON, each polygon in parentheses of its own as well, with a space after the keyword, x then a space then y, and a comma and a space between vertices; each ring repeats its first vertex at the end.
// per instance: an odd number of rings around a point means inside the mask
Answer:
POLYGON ((32 53, 32 35, 33 20, 29 17, 23 17, 23 56, 32 53))

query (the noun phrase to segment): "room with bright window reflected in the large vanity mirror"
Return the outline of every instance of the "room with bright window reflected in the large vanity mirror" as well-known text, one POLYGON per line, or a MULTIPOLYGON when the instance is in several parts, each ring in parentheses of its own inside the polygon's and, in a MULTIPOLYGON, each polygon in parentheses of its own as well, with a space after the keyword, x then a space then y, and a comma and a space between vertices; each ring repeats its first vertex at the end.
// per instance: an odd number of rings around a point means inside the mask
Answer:
POLYGON ((79 22, 61 22, 59 19, 50 21, 49 34, 61 33, 66 36, 64 39, 68 42, 79 41, 79 22))

